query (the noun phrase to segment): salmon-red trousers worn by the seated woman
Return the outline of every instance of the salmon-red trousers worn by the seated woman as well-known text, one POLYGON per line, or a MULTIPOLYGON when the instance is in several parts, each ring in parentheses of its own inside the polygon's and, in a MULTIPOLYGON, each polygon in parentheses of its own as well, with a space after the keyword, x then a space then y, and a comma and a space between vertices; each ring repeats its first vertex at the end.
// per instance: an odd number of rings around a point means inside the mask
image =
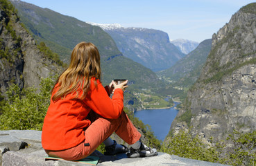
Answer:
MULTIPOLYGON (((94 112, 93 114, 94 118, 98 116, 94 112)), ((117 133, 129 145, 134 144, 141 137, 141 134, 133 126, 126 113, 122 112, 121 116, 117 119, 105 119, 98 116, 85 130, 85 142, 81 142, 76 147, 61 151, 45 151, 49 156, 64 158, 66 160, 79 160, 92 154, 113 132, 117 133)))

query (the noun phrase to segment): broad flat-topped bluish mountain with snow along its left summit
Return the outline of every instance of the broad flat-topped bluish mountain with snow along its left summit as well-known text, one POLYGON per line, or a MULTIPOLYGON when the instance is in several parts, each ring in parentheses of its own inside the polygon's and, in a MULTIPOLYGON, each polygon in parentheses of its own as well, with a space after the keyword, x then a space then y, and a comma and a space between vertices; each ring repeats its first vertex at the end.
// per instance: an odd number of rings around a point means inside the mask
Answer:
MULTIPOLYGON (((92 23, 90 23, 92 24, 92 23)), ((169 42, 167 33, 147 28, 124 28, 120 24, 92 24, 100 26, 117 44, 125 57, 161 71, 173 66, 185 54, 169 42)))

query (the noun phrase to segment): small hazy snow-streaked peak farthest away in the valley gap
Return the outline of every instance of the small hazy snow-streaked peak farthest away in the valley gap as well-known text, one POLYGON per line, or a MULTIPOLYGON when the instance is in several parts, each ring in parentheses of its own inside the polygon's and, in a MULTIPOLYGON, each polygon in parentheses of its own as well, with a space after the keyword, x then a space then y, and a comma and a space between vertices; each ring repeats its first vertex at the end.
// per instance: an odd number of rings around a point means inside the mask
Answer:
POLYGON ((182 53, 188 54, 198 46, 198 42, 187 39, 175 39, 171 41, 182 53))

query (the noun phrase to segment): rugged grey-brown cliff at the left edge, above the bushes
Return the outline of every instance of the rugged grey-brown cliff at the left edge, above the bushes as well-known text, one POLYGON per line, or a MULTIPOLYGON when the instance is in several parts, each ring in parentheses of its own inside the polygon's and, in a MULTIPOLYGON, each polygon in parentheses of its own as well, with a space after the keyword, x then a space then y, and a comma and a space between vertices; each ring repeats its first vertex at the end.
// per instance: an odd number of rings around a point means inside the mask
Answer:
POLYGON ((3 1, 0 10, 1 93, 5 93, 11 83, 20 88, 38 87, 42 77, 59 73, 61 67, 37 49, 33 37, 19 23, 12 5, 3 1))

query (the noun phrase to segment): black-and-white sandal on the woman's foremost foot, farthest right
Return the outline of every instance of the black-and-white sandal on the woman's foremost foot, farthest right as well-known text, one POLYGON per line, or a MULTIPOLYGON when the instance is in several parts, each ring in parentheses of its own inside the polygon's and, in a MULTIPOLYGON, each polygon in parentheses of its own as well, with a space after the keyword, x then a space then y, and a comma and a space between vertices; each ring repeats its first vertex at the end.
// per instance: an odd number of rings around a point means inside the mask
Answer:
MULTIPOLYGON (((141 142, 142 143, 142 142, 141 142)), ((139 149, 133 149, 130 147, 130 152, 127 153, 128 158, 138 158, 138 157, 150 157, 157 156, 157 150, 155 148, 150 148, 144 145, 140 145, 139 149)))

